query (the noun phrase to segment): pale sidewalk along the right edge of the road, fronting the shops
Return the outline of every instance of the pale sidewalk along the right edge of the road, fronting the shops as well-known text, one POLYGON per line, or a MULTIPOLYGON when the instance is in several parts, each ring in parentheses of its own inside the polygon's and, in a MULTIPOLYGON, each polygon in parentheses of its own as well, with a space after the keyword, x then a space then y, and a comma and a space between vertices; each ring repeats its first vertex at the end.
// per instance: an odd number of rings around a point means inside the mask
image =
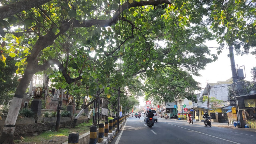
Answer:
MULTIPOLYGON (((168 119, 168 120, 171 120, 171 121, 179 121, 179 122, 187 123, 187 120, 177 120, 177 119, 168 119)), ((187 124, 188 124, 188 123, 187 123, 187 124)), ((194 122, 193 124, 204 126, 204 123, 201 122, 201 121, 196 121, 196 122, 194 122)), ((209 126, 208 126, 208 127, 209 127, 209 126)), ((220 122, 212 122, 212 127, 239 129, 239 130, 245 130, 245 131, 256 132, 256 129, 252 129, 252 128, 239 128, 238 126, 234 127, 233 124, 229 124, 229 125, 228 125, 228 123, 220 123, 220 122)))

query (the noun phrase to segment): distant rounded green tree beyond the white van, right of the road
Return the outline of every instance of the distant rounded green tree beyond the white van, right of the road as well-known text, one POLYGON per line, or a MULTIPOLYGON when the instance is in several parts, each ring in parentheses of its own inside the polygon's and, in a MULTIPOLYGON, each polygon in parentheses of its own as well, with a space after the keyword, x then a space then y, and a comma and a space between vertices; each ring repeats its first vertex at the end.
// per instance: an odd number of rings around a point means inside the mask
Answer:
POLYGON ((184 71, 166 69, 157 78, 148 77, 145 84, 145 99, 153 99, 157 103, 170 102, 175 99, 192 99, 191 88, 200 90, 198 82, 184 71))

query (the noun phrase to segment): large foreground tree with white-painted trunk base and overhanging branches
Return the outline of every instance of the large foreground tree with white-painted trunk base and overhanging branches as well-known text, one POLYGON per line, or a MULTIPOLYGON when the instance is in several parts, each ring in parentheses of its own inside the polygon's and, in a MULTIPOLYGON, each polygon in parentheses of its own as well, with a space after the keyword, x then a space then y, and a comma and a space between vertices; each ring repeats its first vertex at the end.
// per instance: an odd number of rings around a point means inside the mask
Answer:
POLYGON ((19 58, 16 72, 22 79, 0 143, 14 143, 14 126, 23 93, 35 73, 50 74, 55 88, 69 89, 71 83, 80 81, 88 86, 91 104, 99 98, 96 91, 101 89, 110 95, 113 88, 123 85, 124 78, 158 75, 165 67, 182 67, 198 74, 211 62, 206 58, 208 48, 202 45, 205 39, 212 39, 211 33, 204 26, 190 25, 200 24, 204 15, 201 11, 207 10, 203 7, 205 2, 46 2, 2 2, 1 8, 6 10, 0 11, 0 15, 5 15, 0 20, 0 34, 1 43, 6 44, 1 50, 19 58), (161 48, 155 43, 159 40, 165 40, 167 46, 161 48), (122 65, 118 60, 122 60, 122 65), (122 71, 119 65, 125 66, 122 71))

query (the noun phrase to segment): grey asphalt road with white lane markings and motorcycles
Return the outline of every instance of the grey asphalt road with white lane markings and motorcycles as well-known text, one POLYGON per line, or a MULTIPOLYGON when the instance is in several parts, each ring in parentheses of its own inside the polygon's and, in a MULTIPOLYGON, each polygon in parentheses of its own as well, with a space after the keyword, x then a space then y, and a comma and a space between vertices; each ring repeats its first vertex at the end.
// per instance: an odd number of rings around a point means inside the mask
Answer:
POLYGON ((144 119, 130 117, 111 144, 256 144, 256 132, 180 120, 158 119, 150 129, 144 119))

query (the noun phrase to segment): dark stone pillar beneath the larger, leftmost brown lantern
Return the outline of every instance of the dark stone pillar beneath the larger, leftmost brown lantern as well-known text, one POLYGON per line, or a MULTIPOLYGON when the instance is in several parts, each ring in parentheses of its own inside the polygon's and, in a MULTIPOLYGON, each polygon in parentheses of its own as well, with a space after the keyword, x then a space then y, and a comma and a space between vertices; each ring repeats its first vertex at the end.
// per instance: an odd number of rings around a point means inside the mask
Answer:
POLYGON ((34 98, 31 102, 31 110, 34 112, 35 123, 37 123, 38 117, 41 117, 42 100, 41 98, 34 98))

